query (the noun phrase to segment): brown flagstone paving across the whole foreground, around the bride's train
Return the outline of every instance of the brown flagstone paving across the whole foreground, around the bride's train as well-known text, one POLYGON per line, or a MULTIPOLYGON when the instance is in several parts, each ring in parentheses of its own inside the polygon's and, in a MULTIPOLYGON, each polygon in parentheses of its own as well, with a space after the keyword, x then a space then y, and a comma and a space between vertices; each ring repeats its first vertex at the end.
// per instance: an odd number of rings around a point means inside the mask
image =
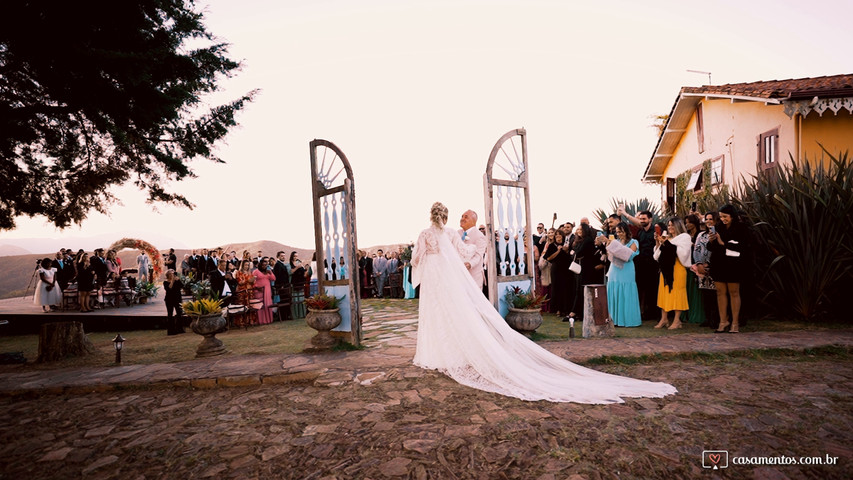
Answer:
POLYGON ((679 393, 524 402, 411 365, 414 302, 364 304, 364 350, 0 370, 5 478, 849 478, 851 330, 543 342, 600 355, 817 349, 594 368, 679 393), (816 352, 816 353, 815 353, 816 352), (220 388, 231 387, 231 388, 220 388), (834 465, 702 468, 703 450, 834 465))

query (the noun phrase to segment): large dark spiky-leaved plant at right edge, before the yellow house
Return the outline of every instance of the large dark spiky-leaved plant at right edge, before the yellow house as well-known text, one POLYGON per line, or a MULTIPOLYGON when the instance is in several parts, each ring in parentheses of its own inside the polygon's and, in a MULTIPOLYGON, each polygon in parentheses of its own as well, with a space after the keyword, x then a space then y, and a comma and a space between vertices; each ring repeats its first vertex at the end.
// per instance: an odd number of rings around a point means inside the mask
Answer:
POLYGON ((787 318, 850 318, 841 311, 853 284, 853 161, 826 154, 753 175, 733 199, 753 222, 758 288, 787 318))

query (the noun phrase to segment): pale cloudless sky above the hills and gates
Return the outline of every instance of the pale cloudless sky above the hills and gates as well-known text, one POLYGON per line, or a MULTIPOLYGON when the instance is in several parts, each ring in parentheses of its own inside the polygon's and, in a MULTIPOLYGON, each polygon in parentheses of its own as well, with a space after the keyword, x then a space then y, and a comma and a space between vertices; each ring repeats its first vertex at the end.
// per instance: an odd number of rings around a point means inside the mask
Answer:
MULTIPOLYGON (((173 183, 193 211, 143 203, 4 238, 167 236, 160 249, 274 240, 312 248, 308 142, 355 172, 358 243, 412 241, 444 202, 483 216, 482 177, 509 130, 528 135, 533 222, 577 221, 611 197, 660 199, 640 178, 652 116, 682 86, 853 72, 853 2, 210 0, 206 24, 245 64, 221 103, 261 89, 219 148, 173 183)), ((73 246, 73 245, 72 245, 73 246)), ((271 252, 272 253, 272 252, 271 252)))

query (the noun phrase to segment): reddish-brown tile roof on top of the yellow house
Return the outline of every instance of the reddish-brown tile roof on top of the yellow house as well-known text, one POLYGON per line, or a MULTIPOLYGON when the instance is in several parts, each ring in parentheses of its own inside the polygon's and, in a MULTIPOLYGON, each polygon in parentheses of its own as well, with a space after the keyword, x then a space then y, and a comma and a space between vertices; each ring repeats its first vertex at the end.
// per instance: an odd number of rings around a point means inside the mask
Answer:
POLYGON ((789 98, 820 93, 826 96, 853 95, 853 74, 826 77, 770 80, 766 82, 730 83, 728 85, 703 85, 683 87, 682 93, 705 93, 710 95, 737 95, 758 98, 789 98))

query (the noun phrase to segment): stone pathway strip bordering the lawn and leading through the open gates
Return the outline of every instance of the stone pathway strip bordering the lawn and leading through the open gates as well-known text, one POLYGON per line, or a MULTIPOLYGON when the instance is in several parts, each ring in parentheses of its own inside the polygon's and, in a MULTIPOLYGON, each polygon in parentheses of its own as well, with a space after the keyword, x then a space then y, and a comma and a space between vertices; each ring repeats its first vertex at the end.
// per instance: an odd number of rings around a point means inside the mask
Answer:
MULTIPOLYGON (((243 355, 189 362, 61 370, 0 370, 0 395, 108 391, 116 388, 251 386, 315 380, 341 385, 387 375, 411 364, 417 342, 417 303, 372 300, 363 305, 364 350, 298 355, 243 355)), ((805 349, 853 346, 853 329, 751 332, 736 335, 680 334, 655 338, 607 338, 542 342, 572 361, 602 355, 640 356, 682 352, 719 353, 756 348, 805 349)))

